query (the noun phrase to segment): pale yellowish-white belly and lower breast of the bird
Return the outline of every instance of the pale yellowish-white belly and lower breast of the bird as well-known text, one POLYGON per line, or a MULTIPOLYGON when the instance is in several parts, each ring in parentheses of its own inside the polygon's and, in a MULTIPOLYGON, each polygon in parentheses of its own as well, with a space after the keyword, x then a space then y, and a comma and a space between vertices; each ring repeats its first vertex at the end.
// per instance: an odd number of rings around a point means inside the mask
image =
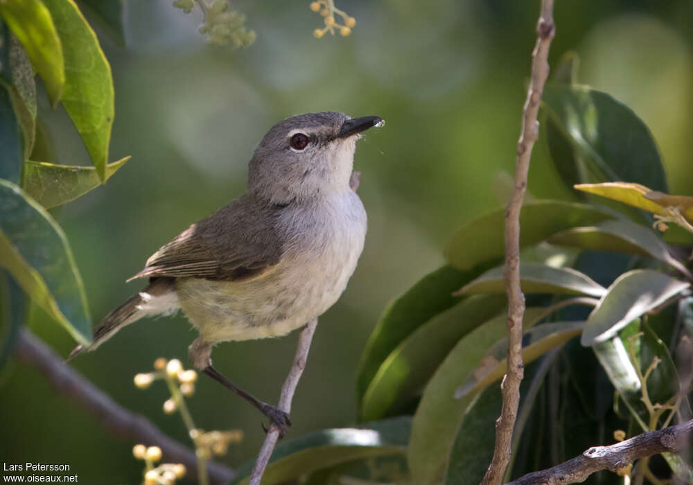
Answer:
POLYGON ((362 214, 347 213, 347 224, 328 220, 310 239, 295 241, 258 279, 178 279, 180 308, 212 343, 279 337, 303 326, 333 306, 356 269, 366 230, 365 211, 357 209, 362 214))

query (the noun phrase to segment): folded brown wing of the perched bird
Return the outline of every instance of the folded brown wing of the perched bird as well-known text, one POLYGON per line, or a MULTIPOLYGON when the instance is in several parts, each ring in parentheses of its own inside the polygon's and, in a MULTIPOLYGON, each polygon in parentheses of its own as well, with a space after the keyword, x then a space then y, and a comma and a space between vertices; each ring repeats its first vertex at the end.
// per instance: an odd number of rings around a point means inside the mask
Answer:
POLYGON ((283 241, 277 209, 244 196, 204 218, 162 246, 128 281, 153 276, 245 281, 279 263, 283 241))

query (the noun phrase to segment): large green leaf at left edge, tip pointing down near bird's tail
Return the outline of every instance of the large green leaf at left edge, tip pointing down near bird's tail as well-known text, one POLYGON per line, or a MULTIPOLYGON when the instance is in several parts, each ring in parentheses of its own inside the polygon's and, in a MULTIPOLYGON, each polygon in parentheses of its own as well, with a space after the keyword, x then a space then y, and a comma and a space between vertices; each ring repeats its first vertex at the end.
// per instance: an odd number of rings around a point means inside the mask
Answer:
POLYGON ((65 234, 42 206, 2 179, 0 265, 75 340, 89 344, 87 299, 65 234))

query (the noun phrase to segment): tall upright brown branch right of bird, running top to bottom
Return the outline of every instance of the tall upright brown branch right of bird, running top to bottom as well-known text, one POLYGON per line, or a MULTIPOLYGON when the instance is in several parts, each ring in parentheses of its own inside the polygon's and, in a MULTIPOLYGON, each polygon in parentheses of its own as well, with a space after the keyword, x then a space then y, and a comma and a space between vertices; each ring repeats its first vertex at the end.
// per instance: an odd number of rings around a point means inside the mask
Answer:
POLYGON ((527 173, 532 148, 539 135, 537 114, 549 75, 549 47, 554 38, 553 0, 542 0, 541 15, 536 24, 536 46, 532 52, 532 78, 523 107, 522 130, 515 159, 515 186, 505 211, 505 289, 508 294, 508 370, 502 380, 503 405, 495 422, 493 460, 486 470, 484 485, 502 481, 512 453, 512 437, 520 403, 520 381, 523 379, 522 321, 525 296, 520 290, 520 209, 527 191, 527 173))

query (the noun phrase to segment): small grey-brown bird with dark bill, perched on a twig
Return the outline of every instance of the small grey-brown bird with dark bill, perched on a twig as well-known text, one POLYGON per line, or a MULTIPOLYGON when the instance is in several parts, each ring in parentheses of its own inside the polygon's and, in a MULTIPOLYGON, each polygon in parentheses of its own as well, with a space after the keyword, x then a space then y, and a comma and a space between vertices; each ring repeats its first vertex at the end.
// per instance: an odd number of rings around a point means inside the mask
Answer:
POLYGON ((200 333, 188 349, 193 365, 286 430, 286 413, 211 366, 212 346, 286 335, 339 299, 366 236, 366 211, 350 187, 356 141, 383 124, 378 116, 322 112, 274 125, 250 160, 247 193, 155 252, 128 280, 149 284, 106 315, 94 342, 69 358, 143 317, 180 309, 200 333))

